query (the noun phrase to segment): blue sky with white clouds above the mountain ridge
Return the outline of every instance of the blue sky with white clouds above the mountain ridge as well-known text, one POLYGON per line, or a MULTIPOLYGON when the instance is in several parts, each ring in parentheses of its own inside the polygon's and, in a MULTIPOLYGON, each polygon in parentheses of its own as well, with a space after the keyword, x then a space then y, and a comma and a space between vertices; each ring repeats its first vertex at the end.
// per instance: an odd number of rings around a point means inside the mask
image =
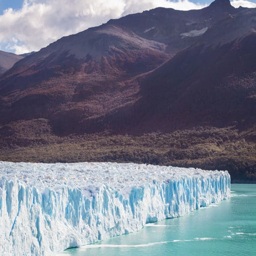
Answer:
MULTIPOLYGON (((38 51, 62 36, 155 7, 200 9, 211 0, 0 0, 0 50, 38 51)), ((231 0, 256 7, 256 0, 231 0)))

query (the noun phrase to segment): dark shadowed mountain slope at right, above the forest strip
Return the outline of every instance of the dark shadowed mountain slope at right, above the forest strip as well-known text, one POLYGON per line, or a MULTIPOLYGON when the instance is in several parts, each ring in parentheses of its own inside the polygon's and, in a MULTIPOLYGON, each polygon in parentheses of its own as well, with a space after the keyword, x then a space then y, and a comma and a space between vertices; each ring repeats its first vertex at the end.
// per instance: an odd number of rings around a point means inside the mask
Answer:
POLYGON ((144 130, 255 124, 255 17, 256 10, 227 17, 140 79, 140 99, 129 110, 131 123, 144 130))

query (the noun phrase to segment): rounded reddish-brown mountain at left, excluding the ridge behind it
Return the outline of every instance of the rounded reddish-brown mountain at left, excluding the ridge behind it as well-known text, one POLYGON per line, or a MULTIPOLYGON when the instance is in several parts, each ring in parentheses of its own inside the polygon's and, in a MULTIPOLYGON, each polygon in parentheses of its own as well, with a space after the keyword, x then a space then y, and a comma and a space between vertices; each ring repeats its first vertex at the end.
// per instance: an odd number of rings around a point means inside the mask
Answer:
POLYGON ((1 120, 103 115, 118 105, 117 98, 126 101, 131 88, 125 81, 170 57, 165 47, 112 25, 64 37, 27 56, 2 77, 1 120))

